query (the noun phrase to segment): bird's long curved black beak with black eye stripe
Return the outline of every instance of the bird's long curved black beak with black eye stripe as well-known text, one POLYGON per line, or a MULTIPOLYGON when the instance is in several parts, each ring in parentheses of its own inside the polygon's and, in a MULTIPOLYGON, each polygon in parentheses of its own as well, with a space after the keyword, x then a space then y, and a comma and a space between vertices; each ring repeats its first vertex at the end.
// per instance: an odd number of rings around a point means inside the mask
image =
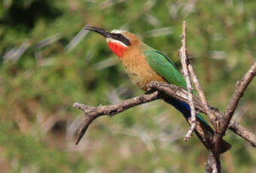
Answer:
POLYGON ((105 29, 101 29, 95 26, 85 26, 84 29, 92 31, 92 32, 97 32, 100 35, 104 36, 105 38, 113 38, 114 40, 117 41, 122 41, 123 44, 126 44, 126 46, 130 46, 130 40, 126 37, 124 37, 122 34, 120 33, 111 33, 106 31, 105 29))

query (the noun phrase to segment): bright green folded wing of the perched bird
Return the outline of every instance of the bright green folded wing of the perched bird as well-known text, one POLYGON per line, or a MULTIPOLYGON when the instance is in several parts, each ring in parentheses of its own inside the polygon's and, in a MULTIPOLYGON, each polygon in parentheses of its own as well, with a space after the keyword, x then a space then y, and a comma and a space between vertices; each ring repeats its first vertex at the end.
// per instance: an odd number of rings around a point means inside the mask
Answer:
POLYGON ((177 86, 187 87, 186 81, 171 59, 157 50, 146 50, 144 52, 148 64, 161 77, 177 86))

